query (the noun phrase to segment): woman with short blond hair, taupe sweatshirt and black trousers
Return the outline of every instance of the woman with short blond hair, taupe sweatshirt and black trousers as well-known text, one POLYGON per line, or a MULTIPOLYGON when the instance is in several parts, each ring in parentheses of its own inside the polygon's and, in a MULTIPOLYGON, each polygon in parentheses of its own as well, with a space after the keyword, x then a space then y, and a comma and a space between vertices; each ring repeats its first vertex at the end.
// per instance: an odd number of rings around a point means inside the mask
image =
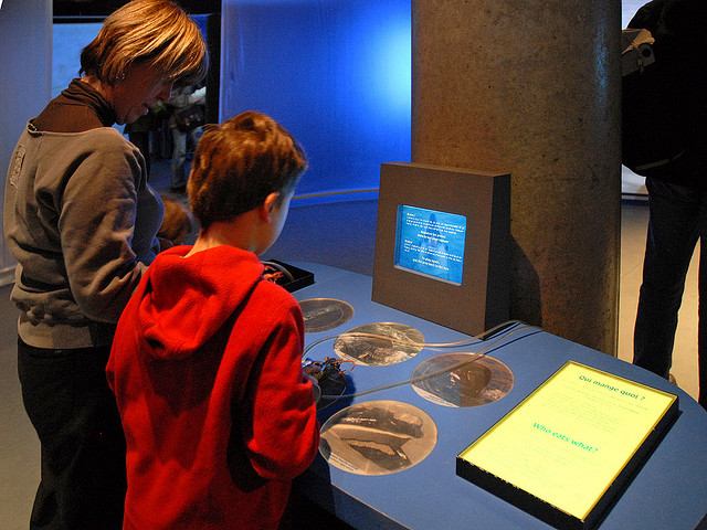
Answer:
POLYGON ((105 20, 81 67, 29 120, 6 181, 19 377, 42 452, 32 530, 123 526, 125 437, 105 365, 118 317, 161 250, 162 204, 140 151, 112 126, 202 78, 205 44, 172 2, 134 0, 105 20))

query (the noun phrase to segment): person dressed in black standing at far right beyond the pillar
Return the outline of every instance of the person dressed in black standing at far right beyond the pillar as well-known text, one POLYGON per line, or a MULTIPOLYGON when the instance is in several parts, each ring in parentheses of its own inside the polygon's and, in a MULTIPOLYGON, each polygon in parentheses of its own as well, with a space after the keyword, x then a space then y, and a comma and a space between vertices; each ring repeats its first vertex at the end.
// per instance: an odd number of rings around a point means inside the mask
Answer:
MULTIPOLYGON (((682 146, 643 172, 650 219, 634 329, 634 364, 668 378, 685 278, 695 246, 707 255, 707 2, 654 0, 629 23, 655 38, 653 74, 662 76, 664 115, 678 124, 682 146)), ((646 112, 657 112, 648 109, 646 112)), ((707 261, 699 264, 699 403, 707 407, 707 261)))

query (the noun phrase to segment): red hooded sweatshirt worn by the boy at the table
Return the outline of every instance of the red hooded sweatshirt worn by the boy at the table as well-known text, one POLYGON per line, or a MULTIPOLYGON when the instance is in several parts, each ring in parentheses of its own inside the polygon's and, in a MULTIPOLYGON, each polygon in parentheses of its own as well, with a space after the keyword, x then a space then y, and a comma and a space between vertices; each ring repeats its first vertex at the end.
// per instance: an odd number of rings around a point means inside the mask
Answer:
POLYGON ((127 442, 124 528, 276 528, 291 480, 316 456, 297 301, 255 254, 157 256, 107 367, 127 442))

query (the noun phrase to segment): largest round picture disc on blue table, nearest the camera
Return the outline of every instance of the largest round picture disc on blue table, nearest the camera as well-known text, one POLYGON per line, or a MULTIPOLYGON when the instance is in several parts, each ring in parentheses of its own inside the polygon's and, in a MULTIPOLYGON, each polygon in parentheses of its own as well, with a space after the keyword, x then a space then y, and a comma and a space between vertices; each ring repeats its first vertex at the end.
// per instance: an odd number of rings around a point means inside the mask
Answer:
POLYGON ((434 421, 399 401, 369 401, 344 409, 321 426, 319 453, 356 475, 390 475, 419 464, 437 443, 434 421))

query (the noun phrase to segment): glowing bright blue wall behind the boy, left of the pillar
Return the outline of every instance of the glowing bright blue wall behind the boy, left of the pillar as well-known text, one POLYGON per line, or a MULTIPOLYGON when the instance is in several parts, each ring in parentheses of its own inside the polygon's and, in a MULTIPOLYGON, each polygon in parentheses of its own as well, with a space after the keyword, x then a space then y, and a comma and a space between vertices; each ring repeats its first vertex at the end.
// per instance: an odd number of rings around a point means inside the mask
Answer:
POLYGON ((297 194, 377 188, 410 160, 410 0, 224 0, 221 118, 254 108, 303 144, 297 194))

